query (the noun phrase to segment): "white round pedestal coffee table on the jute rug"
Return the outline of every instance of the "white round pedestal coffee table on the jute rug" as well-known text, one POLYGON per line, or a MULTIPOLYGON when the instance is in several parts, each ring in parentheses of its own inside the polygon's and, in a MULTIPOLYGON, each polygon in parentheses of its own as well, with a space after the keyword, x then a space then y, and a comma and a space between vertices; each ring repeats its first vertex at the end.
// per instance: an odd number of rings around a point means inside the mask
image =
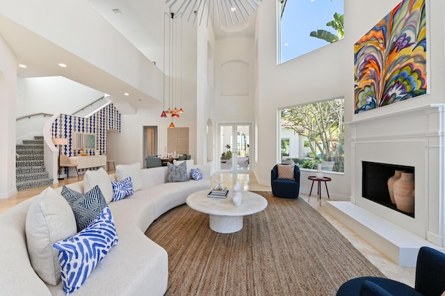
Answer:
POLYGON ((225 199, 207 197, 210 190, 202 190, 188 195, 186 203, 193 210, 209 214, 210 228, 219 233, 233 233, 243 229, 243 216, 263 211, 267 200, 261 195, 243 191, 243 202, 235 206, 233 192, 225 199))

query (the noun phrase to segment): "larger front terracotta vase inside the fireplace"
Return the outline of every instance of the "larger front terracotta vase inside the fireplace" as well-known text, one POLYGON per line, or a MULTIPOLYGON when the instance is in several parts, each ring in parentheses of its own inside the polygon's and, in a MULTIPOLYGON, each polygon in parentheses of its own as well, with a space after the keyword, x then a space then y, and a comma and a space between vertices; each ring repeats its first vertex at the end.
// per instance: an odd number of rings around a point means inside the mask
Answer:
POLYGON ((402 172, 400 179, 394 182, 393 190, 398 210, 414 213, 414 174, 402 172))

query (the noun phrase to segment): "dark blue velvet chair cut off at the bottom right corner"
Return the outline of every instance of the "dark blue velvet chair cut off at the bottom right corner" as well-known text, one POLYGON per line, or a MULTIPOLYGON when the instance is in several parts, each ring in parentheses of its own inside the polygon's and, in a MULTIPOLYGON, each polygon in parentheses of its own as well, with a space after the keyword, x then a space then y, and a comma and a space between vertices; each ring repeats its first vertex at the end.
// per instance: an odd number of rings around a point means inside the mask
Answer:
POLYGON ((428 295, 445 291, 445 254, 430 247, 421 247, 417 255, 414 288, 382 277, 357 277, 343 283, 337 296, 428 295))

